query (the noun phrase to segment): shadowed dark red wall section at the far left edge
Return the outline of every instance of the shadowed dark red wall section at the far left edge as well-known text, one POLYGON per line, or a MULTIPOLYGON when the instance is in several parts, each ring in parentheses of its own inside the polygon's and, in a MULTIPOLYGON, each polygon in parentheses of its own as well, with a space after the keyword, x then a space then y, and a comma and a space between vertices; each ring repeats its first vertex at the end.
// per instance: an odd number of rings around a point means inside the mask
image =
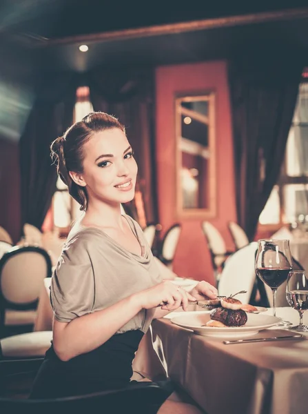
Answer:
POLYGON ((21 226, 19 146, 0 139, 0 226, 18 242, 21 226))

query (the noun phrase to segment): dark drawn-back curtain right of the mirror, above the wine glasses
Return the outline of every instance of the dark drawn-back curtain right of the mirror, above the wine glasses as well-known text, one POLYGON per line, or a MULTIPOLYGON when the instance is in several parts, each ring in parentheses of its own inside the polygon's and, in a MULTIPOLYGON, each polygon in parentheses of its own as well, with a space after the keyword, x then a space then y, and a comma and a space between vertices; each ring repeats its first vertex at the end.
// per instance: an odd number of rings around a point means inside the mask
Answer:
POLYGON ((278 181, 296 105, 302 61, 295 52, 263 52, 229 61, 238 224, 253 240, 278 181))

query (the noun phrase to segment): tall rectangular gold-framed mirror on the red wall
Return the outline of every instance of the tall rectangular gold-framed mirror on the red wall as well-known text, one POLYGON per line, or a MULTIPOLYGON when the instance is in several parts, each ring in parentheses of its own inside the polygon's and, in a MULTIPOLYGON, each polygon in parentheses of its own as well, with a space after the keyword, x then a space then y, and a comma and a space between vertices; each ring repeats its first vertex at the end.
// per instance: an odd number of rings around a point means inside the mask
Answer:
POLYGON ((176 97, 178 217, 216 215, 215 95, 176 97))

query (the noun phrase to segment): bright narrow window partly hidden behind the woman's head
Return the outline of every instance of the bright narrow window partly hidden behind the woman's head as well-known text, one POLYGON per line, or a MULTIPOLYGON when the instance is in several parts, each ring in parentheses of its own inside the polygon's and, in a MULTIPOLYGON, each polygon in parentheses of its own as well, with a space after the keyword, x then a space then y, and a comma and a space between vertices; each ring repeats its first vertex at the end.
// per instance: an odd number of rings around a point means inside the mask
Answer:
MULTIPOLYGON (((74 122, 81 121, 85 115, 92 112, 93 107, 90 102, 90 90, 88 86, 81 86, 76 90, 76 104, 74 107, 74 122)), ((70 228, 81 211, 79 204, 68 193, 68 187, 65 186, 60 177, 57 179, 57 190, 52 199, 52 217, 54 227, 60 228, 64 232, 70 228)))

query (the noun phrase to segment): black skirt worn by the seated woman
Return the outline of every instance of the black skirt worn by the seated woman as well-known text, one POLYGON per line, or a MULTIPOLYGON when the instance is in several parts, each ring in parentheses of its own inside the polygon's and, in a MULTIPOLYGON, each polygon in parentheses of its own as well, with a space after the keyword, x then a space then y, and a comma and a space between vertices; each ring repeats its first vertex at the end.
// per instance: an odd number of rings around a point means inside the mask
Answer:
POLYGON ((131 384, 132 361, 142 337, 142 331, 116 334, 94 351, 67 362, 61 361, 51 346, 34 380, 30 398, 85 395, 131 384))

